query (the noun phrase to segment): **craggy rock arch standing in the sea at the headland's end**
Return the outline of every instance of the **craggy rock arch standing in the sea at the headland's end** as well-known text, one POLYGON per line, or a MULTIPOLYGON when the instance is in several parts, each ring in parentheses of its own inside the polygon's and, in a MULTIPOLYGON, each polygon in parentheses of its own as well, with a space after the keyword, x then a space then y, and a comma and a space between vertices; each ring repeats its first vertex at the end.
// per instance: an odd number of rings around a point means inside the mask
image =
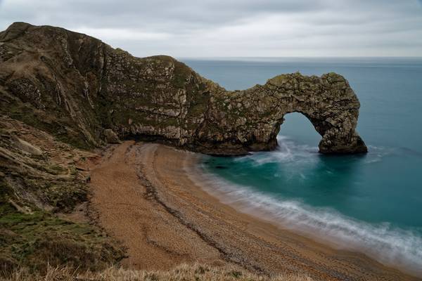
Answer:
POLYGON ((272 150, 284 115, 300 112, 322 136, 319 152, 366 152, 355 128, 359 100, 347 80, 335 73, 321 77, 283 74, 245 91, 225 92, 215 98, 200 138, 205 151, 231 154, 272 150), (210 128, 218 128, 212 131, 210 128), (217 140, 217 142, 216 142, 217 140), (222 149, 218 149, 222 148, 222 149))

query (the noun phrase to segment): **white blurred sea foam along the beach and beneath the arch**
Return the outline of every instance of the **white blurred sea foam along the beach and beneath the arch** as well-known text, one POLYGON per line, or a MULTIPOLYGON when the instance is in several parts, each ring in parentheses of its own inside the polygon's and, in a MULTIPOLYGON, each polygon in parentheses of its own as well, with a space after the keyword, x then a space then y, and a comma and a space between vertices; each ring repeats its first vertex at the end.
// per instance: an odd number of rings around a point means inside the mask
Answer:
MULTIPOLYGON (((286 143, 286 140, 283 140, 286 143)), ((288 145, 289 146, 289 145, 288 145)), ((291 147, 291 144, 290 144, 291 147)), ((304 148, 300 148, 303 151, 304 148)), ((305 148, 313 152, 314 148, 305 148)), ((273 155, 256 157, 257 164, 273 161, 291 161, 291 149, 281 149, 273 155)), ((243 161, 241 157, 238 161, 243 161)), ((312 160, 309 160, 312 161, 312 160)), ((225 204, 246 214, 252 214, 302 235, 334 247, 360 251, 388 266, 401 268, 409 273, 422 275, 422 237, 412 229, 404 230, 390 223, 367 223, 340 214, 335 209, 312 207, 299 200, 273 197, 252 187, 238 185, 211 174, 200 167, 200 178, 189 173, 205 191, 218 197, 225 204)))

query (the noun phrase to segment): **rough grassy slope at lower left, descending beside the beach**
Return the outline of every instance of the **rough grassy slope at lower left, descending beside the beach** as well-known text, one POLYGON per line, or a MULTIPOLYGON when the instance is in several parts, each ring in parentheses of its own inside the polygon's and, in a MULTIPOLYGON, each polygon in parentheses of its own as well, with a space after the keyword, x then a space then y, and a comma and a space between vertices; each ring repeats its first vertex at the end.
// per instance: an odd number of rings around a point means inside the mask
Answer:
POLYGON ((0 275, 18 267, 43 272, 47 264, 97 270, 122 259, 120 246, 98 227, 58 216, 87 200, 85 176, 75 169, 83 154, 0 118, 0 275), (23 139, 41 155, 26 152, 23 139))

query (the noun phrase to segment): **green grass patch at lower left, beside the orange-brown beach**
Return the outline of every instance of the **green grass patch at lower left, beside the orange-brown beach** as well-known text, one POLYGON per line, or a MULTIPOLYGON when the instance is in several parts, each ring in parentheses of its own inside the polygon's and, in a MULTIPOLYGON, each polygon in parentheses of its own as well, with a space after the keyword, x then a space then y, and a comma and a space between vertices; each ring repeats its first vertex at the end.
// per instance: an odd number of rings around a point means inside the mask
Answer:
MULTIPOLYGON (((75 198, 60 200, 68 207, 75 198)), ((43 272, 48 264, 98 270, 124 257, 120 245, 95 226, 67 221, 21 202, 4 180, 0 182, 0 249, 0 276, 18 266, 43 272), (9 200, 32 212, 24 214, 9 200)))

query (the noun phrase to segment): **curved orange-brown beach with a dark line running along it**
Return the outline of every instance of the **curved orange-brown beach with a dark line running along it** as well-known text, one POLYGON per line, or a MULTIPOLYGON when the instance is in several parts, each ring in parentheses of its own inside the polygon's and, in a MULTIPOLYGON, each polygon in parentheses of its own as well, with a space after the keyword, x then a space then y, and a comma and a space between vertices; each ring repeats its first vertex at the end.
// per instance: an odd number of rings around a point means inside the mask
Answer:
POLYGON ((189 171, 198 155, 127 141, 91 166, 90 209, 127 247, 124 266, 232 263, 256 273, 300 273, 314 280, 418 280, 364 254, 334 249, 241 214, 210 196, 189 171))

